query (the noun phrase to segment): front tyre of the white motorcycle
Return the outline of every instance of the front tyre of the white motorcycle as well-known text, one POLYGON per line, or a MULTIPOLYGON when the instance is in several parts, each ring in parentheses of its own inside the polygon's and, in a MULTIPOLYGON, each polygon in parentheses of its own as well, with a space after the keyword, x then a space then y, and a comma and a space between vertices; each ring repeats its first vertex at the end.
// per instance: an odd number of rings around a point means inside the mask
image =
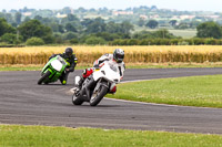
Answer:
POLYGON ((101 85, 98 91, 93 91, 90 99, 90 106, 97 106, 107 93, 108 87, 104 85, 101 85))

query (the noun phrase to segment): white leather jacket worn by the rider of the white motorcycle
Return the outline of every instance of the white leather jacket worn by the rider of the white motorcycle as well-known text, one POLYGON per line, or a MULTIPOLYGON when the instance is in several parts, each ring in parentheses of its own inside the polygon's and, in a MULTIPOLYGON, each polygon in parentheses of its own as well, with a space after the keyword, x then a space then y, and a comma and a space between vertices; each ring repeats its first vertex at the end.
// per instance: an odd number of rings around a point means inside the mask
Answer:
POLYGON ((122 63, 117 63, 113 59, 113 54, 104 54, 102 55, 100 59, 98 59, 94 63, 93 63, 93 66, 103 66, 103 62, 104 61, 109 61, 110 64, 118 64, 118 69, 119 69, 119 72, 120 72, 120 76, 121 78, 123 78, 123 72, 125 70, 125 65, 124 65, 124 62, 122 63))

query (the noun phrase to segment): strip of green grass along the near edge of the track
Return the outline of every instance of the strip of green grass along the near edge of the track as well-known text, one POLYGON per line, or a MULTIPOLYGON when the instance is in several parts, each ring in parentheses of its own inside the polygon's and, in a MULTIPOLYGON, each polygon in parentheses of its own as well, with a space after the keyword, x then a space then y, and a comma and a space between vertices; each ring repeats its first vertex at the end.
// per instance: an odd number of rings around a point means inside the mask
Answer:
POLYGON ((222 136, 148 130, 0 125, 2 147, 222 147, 222 136))

